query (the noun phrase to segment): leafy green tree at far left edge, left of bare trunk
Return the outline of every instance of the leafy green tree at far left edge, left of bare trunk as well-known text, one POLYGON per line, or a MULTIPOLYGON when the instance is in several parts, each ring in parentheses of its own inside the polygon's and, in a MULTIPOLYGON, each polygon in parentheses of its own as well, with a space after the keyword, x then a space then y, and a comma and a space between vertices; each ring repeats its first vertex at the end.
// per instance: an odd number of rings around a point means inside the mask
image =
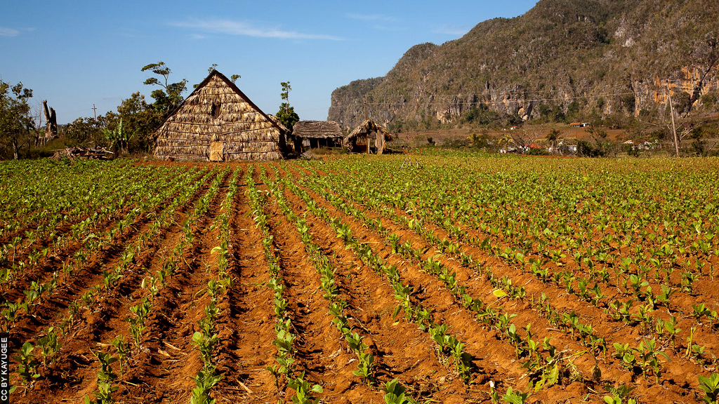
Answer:
POLYGON ((32 98, 32 90, 23 88, 22 83, 10 86, 0 80, 0 142, 12 147, 15 160, 35 126, 30 114, 29 98, 32 98))

